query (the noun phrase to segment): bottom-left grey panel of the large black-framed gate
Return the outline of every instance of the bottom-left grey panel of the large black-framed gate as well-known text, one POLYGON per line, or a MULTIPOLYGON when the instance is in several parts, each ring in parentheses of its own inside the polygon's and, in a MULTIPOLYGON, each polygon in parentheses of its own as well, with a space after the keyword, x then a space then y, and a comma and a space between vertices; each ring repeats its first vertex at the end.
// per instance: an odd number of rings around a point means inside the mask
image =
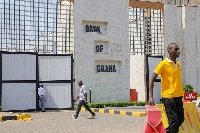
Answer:
POLYGON ((36 109, 35 83, 3 83, 2 110, 36 109))

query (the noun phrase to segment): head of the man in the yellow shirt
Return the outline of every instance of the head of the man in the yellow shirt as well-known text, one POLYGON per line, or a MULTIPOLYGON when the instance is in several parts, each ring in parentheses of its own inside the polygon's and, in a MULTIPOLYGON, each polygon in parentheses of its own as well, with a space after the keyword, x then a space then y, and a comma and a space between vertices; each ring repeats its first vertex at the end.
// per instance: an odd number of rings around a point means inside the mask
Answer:
POLYGON ((176 43, 170 43, 167 46, 167 51, 168 51, 171 59, 178 58, 179 55, 180 55, 180 50, 179 50, 179 47, 176 43))

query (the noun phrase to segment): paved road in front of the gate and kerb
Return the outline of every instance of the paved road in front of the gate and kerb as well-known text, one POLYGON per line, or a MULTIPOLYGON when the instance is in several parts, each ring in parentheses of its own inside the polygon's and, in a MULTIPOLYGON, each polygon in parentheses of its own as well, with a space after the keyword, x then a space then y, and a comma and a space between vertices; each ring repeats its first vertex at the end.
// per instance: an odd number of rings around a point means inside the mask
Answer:
POLYGON ((145 117, 80 112, 78 119, 71 119, 75 111, 48 111, 27 113, 33 120, 0 122, 1 133, 141 133, 145 117))

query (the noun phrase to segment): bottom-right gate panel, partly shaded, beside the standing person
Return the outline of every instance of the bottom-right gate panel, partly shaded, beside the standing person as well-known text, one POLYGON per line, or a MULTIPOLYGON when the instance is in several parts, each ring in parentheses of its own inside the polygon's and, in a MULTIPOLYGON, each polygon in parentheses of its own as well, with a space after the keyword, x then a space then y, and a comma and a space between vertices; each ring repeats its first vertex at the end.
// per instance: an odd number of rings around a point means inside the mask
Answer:
POLYGON ((46 108, 71 108, 70 83, 43 83, 46 90, 46 108))

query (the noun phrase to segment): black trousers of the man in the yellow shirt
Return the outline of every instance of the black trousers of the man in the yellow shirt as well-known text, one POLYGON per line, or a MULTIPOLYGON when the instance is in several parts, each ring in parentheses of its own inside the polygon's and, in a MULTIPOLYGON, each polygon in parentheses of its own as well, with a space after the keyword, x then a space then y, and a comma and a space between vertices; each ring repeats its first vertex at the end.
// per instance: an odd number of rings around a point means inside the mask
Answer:
POLYGON ((163 98, 163 103, 169 124, 169 126, 166 128, 166 132, 178 133, 179 127, 184 122, 182 97, 163 98))

